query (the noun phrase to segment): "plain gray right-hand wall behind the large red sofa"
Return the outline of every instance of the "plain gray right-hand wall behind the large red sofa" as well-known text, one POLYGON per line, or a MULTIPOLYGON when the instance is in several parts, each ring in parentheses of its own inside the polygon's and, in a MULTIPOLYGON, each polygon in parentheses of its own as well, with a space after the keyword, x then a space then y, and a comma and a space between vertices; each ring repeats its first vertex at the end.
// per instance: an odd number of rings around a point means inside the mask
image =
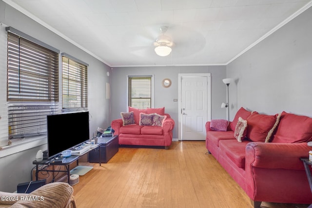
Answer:
POLYGON ((230 117, 240 106, 259 113, 312 117, 312 8, 227 66, 230 117))

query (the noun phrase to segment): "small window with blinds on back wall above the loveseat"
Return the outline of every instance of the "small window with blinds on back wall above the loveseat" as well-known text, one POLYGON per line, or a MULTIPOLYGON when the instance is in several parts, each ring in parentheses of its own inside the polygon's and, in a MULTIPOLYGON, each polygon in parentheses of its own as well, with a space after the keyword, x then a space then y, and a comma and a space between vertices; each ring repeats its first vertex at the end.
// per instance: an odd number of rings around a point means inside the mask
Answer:
POLYGON ((128 76, 128 105, 152 108, 152 76, 128 76))

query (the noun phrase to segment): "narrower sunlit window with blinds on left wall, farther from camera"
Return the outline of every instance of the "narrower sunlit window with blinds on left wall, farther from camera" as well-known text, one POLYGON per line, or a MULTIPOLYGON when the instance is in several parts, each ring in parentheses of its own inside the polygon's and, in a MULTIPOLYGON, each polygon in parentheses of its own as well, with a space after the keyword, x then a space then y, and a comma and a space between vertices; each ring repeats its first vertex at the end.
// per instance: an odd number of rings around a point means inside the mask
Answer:
POLYGON ((88 107, 88 66, 62 53, 62 108, 86 110, 88 107))

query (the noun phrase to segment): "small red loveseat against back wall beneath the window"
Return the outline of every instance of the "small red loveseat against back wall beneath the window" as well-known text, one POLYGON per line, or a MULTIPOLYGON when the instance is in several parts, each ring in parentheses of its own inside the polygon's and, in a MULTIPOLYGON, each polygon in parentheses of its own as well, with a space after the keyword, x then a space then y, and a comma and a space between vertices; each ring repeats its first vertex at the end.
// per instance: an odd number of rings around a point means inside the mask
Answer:
POLYGON ((168 149, 172 143, 172 130, 175 127, 175 121, 164 108, 136 109, 129 107, 128 112, 134 114, 134 124, 124 125, 122 119, 115 119, 111 126, 115 130, 114 135, 118 135, 119 145, 139 145, 139 146, 163 146, 168 149), (140 125, 140 115, 157 114, 165 116, 159 126, 140 125))

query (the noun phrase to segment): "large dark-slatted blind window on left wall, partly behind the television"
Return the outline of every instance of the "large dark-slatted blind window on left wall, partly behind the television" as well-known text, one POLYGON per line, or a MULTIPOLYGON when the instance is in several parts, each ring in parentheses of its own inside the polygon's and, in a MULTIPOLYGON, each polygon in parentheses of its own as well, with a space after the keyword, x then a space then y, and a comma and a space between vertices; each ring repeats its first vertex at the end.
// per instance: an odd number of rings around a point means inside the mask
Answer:
POLYGON ((46 134, 59 102, 59 53, 8 32, 9 139, 46 134))

